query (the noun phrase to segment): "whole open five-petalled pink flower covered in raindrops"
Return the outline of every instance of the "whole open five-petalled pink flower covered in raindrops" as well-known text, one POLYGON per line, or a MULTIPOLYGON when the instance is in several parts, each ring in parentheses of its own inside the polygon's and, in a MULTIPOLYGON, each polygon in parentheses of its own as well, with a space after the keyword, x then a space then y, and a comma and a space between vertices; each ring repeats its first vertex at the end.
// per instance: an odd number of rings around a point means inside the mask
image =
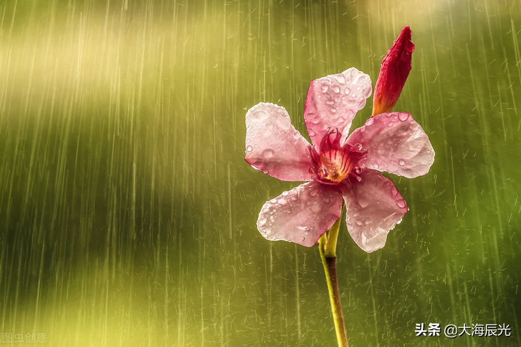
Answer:
POLYGON ((339 219, 343 200, 356 244, 366 252, 385 245, 408 209, 378 171, 425 175, 434 151, 421 126, 403 112, 378 114, 348 136, 370 94, 369 76, 355 68, 311 82, 304 120, 313 146, 283 107, 261 103, 246 113, 245 160, 282 181, 309 181, 264 204, 257 228, 266 239, 313 246, 339 219))

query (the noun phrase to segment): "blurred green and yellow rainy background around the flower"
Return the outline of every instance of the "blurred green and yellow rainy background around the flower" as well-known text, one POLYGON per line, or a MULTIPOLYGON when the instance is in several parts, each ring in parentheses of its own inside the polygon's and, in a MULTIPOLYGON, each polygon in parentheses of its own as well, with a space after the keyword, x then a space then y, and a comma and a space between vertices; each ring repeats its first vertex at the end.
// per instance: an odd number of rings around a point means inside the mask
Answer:
POLYGON ((356 67, 374 85, 410 25, 395 110, 436 161, 388 175, 410 212, 384 249, 341 228, 351 345, 521 345, 520 14, 519 0, 2 1, 0 331, 49 346, 335 345, 318 249, 256 230, 296 183, 244 162, 244 115, 275 102, 305 134, 309 82, 356 67), (419 323, 512 336, 416 337, 419 323))

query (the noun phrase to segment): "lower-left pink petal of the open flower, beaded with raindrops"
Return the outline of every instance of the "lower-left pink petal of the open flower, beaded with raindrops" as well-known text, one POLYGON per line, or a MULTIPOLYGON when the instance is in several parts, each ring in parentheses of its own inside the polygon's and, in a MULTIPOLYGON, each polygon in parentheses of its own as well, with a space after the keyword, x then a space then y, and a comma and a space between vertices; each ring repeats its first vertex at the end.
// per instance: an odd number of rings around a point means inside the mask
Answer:
POLYGON ((268 240, 311 247, 340 218, 339 186, 308 182, 266 201, 257 228, 268 240))

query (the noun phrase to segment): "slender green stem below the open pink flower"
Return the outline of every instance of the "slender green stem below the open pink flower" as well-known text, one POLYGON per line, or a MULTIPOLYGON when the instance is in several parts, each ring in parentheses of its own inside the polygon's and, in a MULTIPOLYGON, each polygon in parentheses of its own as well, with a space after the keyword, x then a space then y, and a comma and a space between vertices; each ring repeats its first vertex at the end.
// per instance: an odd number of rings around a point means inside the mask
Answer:
POLYGON ((337 333, 337 342, 339 347, 349 347, 348 336, 345 333, 344 315, 342 314, 342 305, 340 303, 340 292, 338 290, 337 280, 337 238, 340 227, 340 218, 333 224, 327 234, 324 234, 318 240, 318 249, 320 251, 320 260, 324 265, 326 273, 327 288, 329 292, 329 303, 331 304, 331 312, 333 314, 334 330, 337 333))

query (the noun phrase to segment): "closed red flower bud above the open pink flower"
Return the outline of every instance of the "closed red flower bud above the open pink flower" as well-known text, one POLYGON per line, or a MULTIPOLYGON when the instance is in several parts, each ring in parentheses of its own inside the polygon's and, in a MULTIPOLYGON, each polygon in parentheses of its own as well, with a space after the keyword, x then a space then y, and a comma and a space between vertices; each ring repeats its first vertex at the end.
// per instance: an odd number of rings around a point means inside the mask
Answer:
POLYGON ((411 71, 411 56, 414 51, 411 35, 411 29, 407 25, 383 58, 375 85, 373 115, 390 111, 402 93, 405 80, 411 71))

